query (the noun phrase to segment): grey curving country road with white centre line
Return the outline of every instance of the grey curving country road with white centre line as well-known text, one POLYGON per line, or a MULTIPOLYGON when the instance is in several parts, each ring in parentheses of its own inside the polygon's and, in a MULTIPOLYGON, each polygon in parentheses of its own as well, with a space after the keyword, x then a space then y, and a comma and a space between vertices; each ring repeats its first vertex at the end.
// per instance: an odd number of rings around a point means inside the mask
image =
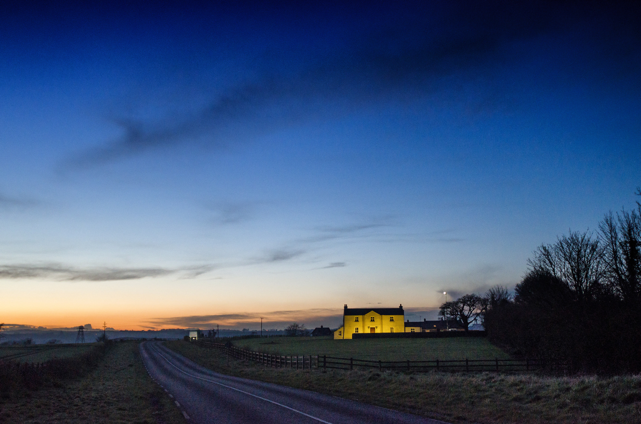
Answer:
POLYGON ((190 423, 447 424, 412 414, 208 370, 162 342, 140 343, 149 375, 190 423))

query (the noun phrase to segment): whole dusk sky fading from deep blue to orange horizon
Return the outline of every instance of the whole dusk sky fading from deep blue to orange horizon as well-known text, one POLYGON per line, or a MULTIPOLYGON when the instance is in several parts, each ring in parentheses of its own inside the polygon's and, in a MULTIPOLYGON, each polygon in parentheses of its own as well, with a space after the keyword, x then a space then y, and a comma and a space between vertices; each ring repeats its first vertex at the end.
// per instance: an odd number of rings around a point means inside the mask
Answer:
POLYGON ((635 207, 640 12, 3 2, 0 322, 338 327, 513 288, 635 207))

